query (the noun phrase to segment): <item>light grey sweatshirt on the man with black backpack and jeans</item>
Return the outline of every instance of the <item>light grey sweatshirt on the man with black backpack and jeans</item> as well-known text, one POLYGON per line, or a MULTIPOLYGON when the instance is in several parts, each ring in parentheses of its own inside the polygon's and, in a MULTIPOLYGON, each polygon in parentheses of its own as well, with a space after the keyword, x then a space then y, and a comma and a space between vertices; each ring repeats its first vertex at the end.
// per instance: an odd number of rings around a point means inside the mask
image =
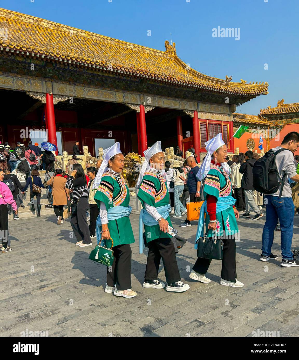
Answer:
MULTIPOLYGON (((276 148, 272 149, 274 152, 282 149, 281 146, 277 146, 276 148)), ((284 150, 281 153, 279 153, 276 158, 275 158, 275 163, 276 163, 276 168, 278 170, 278 181, 281 182, 282 180, 282 176, 284 174, 286 174, 287 176, 285 177, 285 184, 283 185, 283 190, 282 190, 282 197, 292 197, 292 190, 290 187, 290 184, 288 183, 288 179, 289 177, 293 177, 295 176, 296 173, 296 166, 294 163, 294 156, 293 153, 290 150, 284 150)), ((280 193, 280 188, 277 190, 276 193, 274 194, 270 194, 273 196, 279 196, 280 193)))

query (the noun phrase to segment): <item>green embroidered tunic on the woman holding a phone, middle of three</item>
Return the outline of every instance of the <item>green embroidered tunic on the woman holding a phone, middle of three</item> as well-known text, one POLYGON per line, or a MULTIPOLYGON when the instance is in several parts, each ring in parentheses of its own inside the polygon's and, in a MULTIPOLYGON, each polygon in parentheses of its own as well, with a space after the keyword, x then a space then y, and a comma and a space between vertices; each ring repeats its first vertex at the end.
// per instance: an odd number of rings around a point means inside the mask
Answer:
MULTIPOLYGON (((141 201, 143 208, 145 208, 144 203, 154 206, 155 208, 168 205, 169 193, 163 175, 151 168, 146 171, 140 184, 137 197, 141 201)), ((168 225, 172 226, 169 215, 165 220, 168 221, 168 225)), ((171 235, 160 230, 159 224, 153 226, 144 225, 144 231, 147 243, 159 238, 172 238, 171 235)))

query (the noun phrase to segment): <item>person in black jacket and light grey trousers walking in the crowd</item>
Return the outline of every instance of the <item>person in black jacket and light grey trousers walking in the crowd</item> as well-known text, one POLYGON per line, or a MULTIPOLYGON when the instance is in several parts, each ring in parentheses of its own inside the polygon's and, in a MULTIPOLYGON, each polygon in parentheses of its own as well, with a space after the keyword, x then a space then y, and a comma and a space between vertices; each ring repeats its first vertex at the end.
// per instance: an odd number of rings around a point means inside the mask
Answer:
POLYGON ((242 216, 250 217, 250 208, 255 212, 255 217, 252 220, 259 220, 264 216, 263 213, 260 212, 258 206, 254 201, 254 187, 253 187, 253 176, 252 176, 252 168, 255 164, 255 159, 253 158, 253 152, 251 150, 246 151, 245 153, 245 161, 239 168, 239 173, 243 174, 241 187, 244 189, 245 193, 245 202, 246 202, 246 210, 242 216))

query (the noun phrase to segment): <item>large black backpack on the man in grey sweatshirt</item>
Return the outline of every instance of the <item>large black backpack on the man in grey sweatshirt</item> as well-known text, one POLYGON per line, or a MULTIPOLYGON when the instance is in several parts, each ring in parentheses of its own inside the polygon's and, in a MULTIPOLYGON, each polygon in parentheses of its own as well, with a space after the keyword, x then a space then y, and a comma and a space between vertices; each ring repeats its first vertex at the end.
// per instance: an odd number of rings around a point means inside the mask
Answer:
POLYGON ((278 171, 276 168, 275 158, 277 154, 284 150, 287 149, 279 149, 276 152, 270 149, 263 157, 254 163, 252 168, 253 187, 257 192, 262 194, 273 194, 277 192, 279 186, 281 185, 279 194, 281 197, 286 174, 283 175, 280 183, 277 178, 278 171))

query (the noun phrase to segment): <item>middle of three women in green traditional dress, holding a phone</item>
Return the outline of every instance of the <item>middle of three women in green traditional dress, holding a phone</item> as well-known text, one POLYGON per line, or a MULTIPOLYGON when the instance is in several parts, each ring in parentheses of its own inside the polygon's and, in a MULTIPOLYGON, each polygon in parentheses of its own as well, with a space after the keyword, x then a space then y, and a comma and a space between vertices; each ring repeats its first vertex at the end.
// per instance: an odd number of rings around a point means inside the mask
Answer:
POLYGON ((158 280, 161 257, 163 260, 167 291, 184 292, 190 287, 181 282, 180 272, 176 262, 175 245, 172 236, 167 233, 168 225, 172 226, 169 216, 171 206, 166 180, 161 174, 165 155, 161 149, 161 141, 157 141, 151 148, 145 150, 145 161, 136 184, 137 197, 142 203, 139 218, 139 247, 143 251, 144 224, 145 242, 149 248, 148 261, 144 276, 143 287, 162 289, 164 283, 158 280))

